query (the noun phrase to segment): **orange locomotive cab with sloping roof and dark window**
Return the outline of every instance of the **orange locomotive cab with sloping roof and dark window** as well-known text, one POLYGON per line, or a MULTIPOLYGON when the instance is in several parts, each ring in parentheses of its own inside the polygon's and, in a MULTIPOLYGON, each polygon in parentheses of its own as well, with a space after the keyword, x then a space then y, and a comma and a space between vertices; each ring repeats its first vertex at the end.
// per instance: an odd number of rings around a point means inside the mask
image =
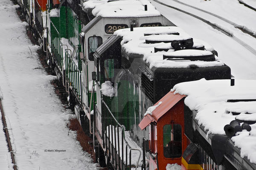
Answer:
POLYGON ((139 124, 141 130, 149 126, 150 170, 165 170, 167 164, 181 165, 183 152, 190 143, 184 134, 184 97, 169 92, 139 124))

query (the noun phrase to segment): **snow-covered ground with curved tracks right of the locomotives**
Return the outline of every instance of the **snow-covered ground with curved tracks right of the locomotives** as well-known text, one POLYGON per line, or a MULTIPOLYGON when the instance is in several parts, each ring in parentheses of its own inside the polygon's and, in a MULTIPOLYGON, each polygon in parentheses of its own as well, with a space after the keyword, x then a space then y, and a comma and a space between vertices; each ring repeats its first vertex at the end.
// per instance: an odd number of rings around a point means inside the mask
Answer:
MULTIPOLYGON (((231 72, 235 78, 239 79, 255 79, 256 78, 256 55, 250 52, 245 46, 235 41, 232 37, 224 35, 218 30, 212 28, 201 20, 191 17, 188 14, 179 12, 175 9, 163 6, 150 0, 157 10, 165 17, 184 29, 190 36, 204 40, 218 51, 219 58, 231 67, 231 72)), ((201 12, 189 6, 178 3, 178 0, 160 0, 170 6, 180 8, 184 11, 195 14, 199 17, 215 23, 233 35, 241 39, 255 50, 256 39, 250 35, 246 35, 241 30, 236 29, 230 23, 227 23, 217 17, 205 12, 201 12)), ((238 25, 246 26, 252 31, 256 31, 256 12, 252 9, 240 4, 237 0, 179 0, 179 2, 195 6, 205 11, 212 12, 221 17, 226 18, 238 25)))

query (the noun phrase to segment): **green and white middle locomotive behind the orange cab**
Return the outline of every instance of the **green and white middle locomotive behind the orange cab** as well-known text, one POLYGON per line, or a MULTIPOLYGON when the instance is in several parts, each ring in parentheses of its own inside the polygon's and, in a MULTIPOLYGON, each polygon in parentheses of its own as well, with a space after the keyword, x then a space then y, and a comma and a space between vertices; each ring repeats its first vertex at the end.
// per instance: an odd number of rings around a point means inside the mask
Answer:
MULTIPOLYGON (((128 160, 121 161, 121 164, 119 161, 130 158, 129 154, 133 155, 133 159, 137 159, 135 162, 128 161, 128 165, 132 164, 131 167, 137 167, 140 164, 134 163, 141 161, 140 152, 132 150, 133 148, 125 150, 122 154, 118 153, 119 144, 115 143, 116 138, 119 139, 120 136, 117 136, 117 131, 129 131, 129 138, 131 136, 138 146, 143 147, 143 140, 148 141, 149 136, 153 138, 154 131, 163 130, 154 126, 141 130, 138 125, 143 120, 144 113, 175 84, 201 78, 231 78, 230 68, 215 57, 212 47, 193 39, 177 26, 120 29, 96 49, 94 63, 97 94, 94 128, 96 145, 100 146, 98 158, 102 158, 103 155, 100 154, 107 153, 108 161, 116 166, 114 169, 125 169, 128 160), (122 157, 123 154, 126 156, 122 157)), ((150 120, 154 118, 147 119, 149 124, 150 120)), ((169 118, 166 117, 165 120, 169 118)), ((183 120, 184 116, 177 118, 179 122, 183 120)), ((185 134, 180 132, 181 134, 182 138, 185 138, 185 134)), ((122 137, 120 141, 125 141, 122 137)), ((163 144, 154 144, 156 139, 152 138, 152 150, 147 159, 159 160, 161 165, 151 165, 150 169, 164 169, 165 158, 157 149, 163 144)), ((180 145, 183 150, 180 150, 178 155, 168 157, 169 163, 181 164, 181 156, 188 142, 189 140, 186 140, 180 145)), ((125 144, 125 147, 127 145, 125 144)))

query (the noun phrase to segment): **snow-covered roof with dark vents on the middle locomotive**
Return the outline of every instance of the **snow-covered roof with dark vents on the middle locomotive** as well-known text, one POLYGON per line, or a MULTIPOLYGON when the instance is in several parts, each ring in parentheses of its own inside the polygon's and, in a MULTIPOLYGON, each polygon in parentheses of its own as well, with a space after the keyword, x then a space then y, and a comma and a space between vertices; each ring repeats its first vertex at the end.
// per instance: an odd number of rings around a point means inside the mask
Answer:
POLYGON ((114 35, 122 37, 122 50, 128 55, 136 54, 142 55, 143 60, 149 64, 149 67, 155 68, 189 68, 191 65, 198 67, 212 67, 212 66, 224 66, 224 63, 215 56, 215 61, 170 61, 163 59, 163 55, 209 55, 214 50, 209 44, 202 40, 193 39, 193 47, 204 46, 207 50, 192 50, 185 49, 175 51, 171 43, 164 43, 160 41, 165 40, 184 40, 191 38, 186 32, 177 26, 164 26, 164 27, 138 27, 134 28, 134 31, 130 29, 120 29, 114 32, 114 35), (172 35, 179 33, 179 35, 172 35), (157 41, 158 43, 147 43, 146 41, 157 41), (168 48, 169 51, 154 52, 154 47, 168 48))

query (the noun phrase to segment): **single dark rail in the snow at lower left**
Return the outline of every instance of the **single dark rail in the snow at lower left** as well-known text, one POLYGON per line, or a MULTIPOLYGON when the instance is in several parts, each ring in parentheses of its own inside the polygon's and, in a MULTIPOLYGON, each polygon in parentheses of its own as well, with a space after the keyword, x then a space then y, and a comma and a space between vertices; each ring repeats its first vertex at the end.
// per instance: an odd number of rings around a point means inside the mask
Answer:
POLYGON ((6 136, 7 146, 8 146, 9 152, 11 153, 13 169, 17 170, 17 165, 15 163, 15 158, 14 158, 14 154, 13 154, 13 150, 12 150, 12 144, 11 144, 11 141, 10 141, 10 136, 9 136, 9 132, 8 132, 7 125, 6 125, 6 119, 5 119, 5 115, 4 115, 4 112, 3 112, 3 104, 2 104, 2 99, 1 98, 0 98, 0 111, 2 113, 3 130, 4 130, 4 133, 5 133, 5 136, 6 136))

